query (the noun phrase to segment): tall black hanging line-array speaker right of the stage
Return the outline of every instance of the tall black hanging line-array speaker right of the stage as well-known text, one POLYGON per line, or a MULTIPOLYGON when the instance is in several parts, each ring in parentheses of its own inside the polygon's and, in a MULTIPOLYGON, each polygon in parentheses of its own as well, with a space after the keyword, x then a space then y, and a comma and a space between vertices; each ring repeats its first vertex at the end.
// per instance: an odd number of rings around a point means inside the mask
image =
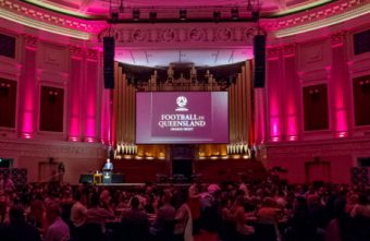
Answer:
POLYGON ((266 36, 256 35, 254 38, 255 52, 255 88, 264 87, 266 75, 266 36))

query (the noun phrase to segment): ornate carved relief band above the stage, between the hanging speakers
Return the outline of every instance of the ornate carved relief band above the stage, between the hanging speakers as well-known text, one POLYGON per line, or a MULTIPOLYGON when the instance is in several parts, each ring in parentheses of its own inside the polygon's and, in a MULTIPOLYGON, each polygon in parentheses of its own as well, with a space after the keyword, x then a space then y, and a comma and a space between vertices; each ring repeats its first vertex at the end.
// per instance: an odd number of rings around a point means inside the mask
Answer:
POLYGON ((234 46, 251 46, 252 38, 257 34, 257 27, 243 24, 218 24, 209 26, 198 24, 197 27, 189 24, 157 24, 127 27, 125 25, 114 25, 99 33, 98 39, 102 41, 106 36, 114 36, 118 47, 133 47, 137 44, 163 44, 168 47, 172 45, 184 45, 195 43, 208 43, 217 46, 232 44, 234 46))

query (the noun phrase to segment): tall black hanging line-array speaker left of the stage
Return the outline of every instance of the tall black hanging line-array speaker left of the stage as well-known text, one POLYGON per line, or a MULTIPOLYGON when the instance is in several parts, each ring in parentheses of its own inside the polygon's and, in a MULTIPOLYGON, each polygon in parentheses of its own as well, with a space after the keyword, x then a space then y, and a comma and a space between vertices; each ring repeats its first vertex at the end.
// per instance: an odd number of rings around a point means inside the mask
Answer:
POLYGON ((114 88, 114 37, 103 37, 104 88, 114 88))

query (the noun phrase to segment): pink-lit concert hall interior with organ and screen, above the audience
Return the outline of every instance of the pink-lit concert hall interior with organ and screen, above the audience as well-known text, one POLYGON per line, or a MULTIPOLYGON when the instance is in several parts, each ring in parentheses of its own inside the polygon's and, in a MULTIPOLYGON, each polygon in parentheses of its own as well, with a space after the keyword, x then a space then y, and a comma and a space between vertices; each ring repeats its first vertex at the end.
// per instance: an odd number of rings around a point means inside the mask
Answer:
POLYGON ((370 1, 0 0, 0 173, 369 184, 370 1))

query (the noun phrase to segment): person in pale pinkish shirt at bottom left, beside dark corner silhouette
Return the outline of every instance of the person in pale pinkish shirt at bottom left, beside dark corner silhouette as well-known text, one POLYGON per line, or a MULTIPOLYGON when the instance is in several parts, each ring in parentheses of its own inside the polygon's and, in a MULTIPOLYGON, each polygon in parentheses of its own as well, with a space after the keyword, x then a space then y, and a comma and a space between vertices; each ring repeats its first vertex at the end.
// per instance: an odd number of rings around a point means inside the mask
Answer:
POLYGON ((61 208, 58 203, 52 202, 47 206, 47 220, 49 227, 44 241, 67 241, 70 240, 70 228, 61 218, 61 208))

